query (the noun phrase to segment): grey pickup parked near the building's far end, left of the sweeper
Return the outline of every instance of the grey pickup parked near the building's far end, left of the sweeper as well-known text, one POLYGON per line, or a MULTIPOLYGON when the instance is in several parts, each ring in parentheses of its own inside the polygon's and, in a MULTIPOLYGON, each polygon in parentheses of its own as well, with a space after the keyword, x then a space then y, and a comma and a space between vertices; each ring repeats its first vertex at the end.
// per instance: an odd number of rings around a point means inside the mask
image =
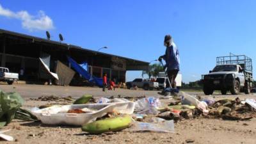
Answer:
POLYGON ((149 79, 134 79, 133 81, 129 81, 126 83, 128 89, 132 86, 137 86, 138 88, 143 88, 144 90, 154 90, 154 88, 158 88, 157 82, 150 82, 149 79))

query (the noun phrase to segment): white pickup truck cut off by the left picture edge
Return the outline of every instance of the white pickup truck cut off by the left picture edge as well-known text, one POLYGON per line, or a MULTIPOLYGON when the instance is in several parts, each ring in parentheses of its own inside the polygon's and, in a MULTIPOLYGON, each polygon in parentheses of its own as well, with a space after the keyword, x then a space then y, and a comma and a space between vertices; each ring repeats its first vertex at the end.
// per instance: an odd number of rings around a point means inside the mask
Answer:
POLYGON ((9 72, 8 68, 0 67, 0 81, 12 84, 13 81, 18 81, 19 74, 9 72))

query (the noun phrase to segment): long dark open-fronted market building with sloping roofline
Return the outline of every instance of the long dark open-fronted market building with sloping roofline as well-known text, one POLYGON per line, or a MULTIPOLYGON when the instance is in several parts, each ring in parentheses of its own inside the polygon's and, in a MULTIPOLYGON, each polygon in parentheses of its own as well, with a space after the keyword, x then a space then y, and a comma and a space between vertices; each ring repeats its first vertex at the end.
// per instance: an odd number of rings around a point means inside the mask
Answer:
MULTIPOLYGON (((84 49, 77 45, 65 44, 45 38, 15 33, 0 29, 0 64, 7 67, 10 72, 20 73, 24 70, 24 81, 42 81, 45 78, 44 70, 40 67, 40 56, 49 54, 51 63, 49 69, 56 72, 56 61, 61 61, 67 67, 70 63, 67 56, 77 63, 88 63, 88 72, 95 77, 108 74, 109 79, 125 82, 127 70, 147 70, 148 62, 124 58, 104 52, 84 49)), ((74 78, 79 77, 75 74, 74 78)), ((73 79, 74 79, 73 78, 73 79)))

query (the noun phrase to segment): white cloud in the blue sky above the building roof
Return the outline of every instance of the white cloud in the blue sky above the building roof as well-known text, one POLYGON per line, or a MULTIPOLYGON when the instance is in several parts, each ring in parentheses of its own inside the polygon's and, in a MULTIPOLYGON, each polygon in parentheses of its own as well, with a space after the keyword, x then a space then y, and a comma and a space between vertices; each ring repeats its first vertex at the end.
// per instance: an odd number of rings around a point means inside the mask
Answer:
POLYGON ((42 10, 38 12, 38 15, 34 16, 23 10, 20 12, 12 12, 11 10, 3 8, 0 4, 0 15, 21 20, 22 28, 28 29, 29 31, 54 29, 51 17, 45 15, 42 10))

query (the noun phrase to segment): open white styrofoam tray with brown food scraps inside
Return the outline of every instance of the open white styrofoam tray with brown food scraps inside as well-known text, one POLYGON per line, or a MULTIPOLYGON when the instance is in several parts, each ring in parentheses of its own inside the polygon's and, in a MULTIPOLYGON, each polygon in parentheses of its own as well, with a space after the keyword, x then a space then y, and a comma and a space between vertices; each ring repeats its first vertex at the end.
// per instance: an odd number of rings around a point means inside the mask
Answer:
POLYGON ((115 104, 72 104, 51 106, 32 111, 43 124, 49 125, 83 125, 95 121, 113 111, 115 104), (92 113, 67 113, 69 109, 95 109, 92 113))

